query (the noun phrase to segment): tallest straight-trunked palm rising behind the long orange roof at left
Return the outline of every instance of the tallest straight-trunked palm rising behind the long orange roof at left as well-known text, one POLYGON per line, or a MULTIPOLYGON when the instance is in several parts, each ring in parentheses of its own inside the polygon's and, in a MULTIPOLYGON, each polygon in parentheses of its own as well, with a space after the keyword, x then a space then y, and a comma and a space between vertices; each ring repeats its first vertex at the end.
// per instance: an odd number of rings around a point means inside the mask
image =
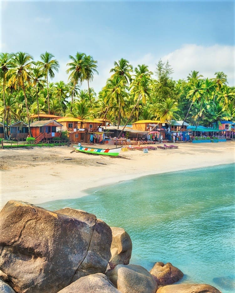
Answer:
POLYGON ((47 84, 47 101, 48 101, 48 114, 50 115, 50 99, 49 99, 49 91, 48 91, 48 74, 50 78, 55 77, 54 71, 58 72, 58 68, 60 67, 59 62, 56 59, 52 59, 55 57, 49 52, 45 52, 40 55, 42 61, 38 62, 40 69, 44 72, 46 76, 46 84, 47 84))

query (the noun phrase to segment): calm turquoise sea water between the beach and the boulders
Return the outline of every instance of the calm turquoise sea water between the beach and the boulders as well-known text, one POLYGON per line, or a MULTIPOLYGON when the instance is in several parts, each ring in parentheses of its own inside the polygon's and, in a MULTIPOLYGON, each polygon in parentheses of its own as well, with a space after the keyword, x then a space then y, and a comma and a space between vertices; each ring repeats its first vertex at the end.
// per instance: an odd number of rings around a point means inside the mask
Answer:
POLYGON ((183 281, 235 292, 235 164, 144 176, 89 189, 79 199, 41 204, 86 210, 123 227, 131 263, 171 262, 183 281))

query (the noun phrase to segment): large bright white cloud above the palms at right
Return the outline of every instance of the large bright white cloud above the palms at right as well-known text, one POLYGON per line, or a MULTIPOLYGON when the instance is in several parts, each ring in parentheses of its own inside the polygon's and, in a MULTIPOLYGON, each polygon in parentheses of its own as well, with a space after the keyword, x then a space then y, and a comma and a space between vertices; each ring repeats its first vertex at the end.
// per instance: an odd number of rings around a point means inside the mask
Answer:
POLYGON ((205 78, 213 78, 217 71, 227 74, 230 86, 235 85, 235 47, 213 45, 210 47, 186 44, 162 57, 169 61, 174 79, 186 79, 191 71, 199 71, 205 78))

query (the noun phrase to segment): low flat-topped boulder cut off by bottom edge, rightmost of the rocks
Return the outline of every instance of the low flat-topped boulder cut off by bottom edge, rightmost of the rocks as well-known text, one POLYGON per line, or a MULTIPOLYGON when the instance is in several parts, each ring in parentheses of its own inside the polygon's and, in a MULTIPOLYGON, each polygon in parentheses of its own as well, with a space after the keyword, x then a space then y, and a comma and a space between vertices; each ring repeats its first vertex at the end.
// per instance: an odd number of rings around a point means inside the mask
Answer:
POLYGON ((218 289, 207 284, 175 284, 159 287, 157 293, 221 293, 218 289))

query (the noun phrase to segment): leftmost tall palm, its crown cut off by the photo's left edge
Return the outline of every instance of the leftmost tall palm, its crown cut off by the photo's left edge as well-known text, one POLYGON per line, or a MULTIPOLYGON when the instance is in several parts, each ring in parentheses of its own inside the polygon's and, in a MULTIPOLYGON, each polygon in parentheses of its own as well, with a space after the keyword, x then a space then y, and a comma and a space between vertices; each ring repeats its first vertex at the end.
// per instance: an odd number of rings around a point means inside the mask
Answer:
POLYGON ((4 139, 8 138, 6 128, 5 128, 5 119, 7 113, 6 101, 5 101, 5 84, 6 84, 6 73, 8 72, 9 68, 11 67, 10 62, 10 54, 8 53, 0 53, 0 76, 3 78, 3 105, 4 105, 4 112, 3 112, 3 133, 4 139))

